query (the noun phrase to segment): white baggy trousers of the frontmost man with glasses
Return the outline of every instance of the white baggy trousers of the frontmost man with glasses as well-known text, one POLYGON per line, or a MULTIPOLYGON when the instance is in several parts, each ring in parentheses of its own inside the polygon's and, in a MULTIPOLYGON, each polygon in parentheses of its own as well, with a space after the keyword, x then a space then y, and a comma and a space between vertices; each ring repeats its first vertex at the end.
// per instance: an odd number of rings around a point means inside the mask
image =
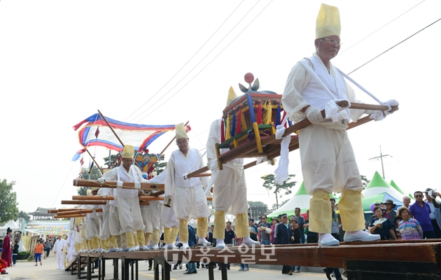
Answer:
POLYGON ((361 190, 363 184, 346 130, 309 125, 299 131, 304 188, 339 193, 361 190))

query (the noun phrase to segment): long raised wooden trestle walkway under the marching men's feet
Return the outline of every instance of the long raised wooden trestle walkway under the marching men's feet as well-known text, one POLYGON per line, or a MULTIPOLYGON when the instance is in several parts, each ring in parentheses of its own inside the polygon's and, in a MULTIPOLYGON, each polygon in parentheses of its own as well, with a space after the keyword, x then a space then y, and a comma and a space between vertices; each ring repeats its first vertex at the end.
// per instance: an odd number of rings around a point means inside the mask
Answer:
MULTIPOLYGON (((150 250, 120 253, 80 253, 76 263, 87 263, 85 279, 106 276, 105 261, 113 260, 111 279, 138 279, 138 261, 155 261, 155 280, 170 279, 170 267, 178 260, 210 262, 209 280, 214 280, 214 263, 253 263, 260 265, 300 265, 309 267, 346 267, 350 280, 441 279, 441 239, 342 242, 340 246, 318 247, 316 244, 194 248, 188 251, 150 250), (92 276, 92 260, 99 259, 98 275, 92 276), (132 263, 131 269, 130 262, 132 263)), ((226 265, 222 280, 228 279, 226 265)), ((80 272, 78 272, 80 278, 80 272)), ((83 277, 84 278, 84 277, 83 277)), ((110 279, 110 278, 107 278, 110 279)))

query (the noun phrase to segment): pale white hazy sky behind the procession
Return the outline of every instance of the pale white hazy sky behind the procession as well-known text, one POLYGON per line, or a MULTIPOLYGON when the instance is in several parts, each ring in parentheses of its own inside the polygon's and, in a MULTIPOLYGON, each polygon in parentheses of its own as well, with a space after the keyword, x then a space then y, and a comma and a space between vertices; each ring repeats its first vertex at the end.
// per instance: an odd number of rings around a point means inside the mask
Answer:
MULTIPOLYGON (((0 179, 15 181, 19 209, 60 207, 76 195, 81 146, 73 125, 97 113, 151 125, 190 121, 202 149, 228 89, 251 72, 260 90, 281 94, 295 62, 314 52, 321 1, 0 1, 0 179)), ((332 60, 381 101, 400 110, 349 131, 360 173, 372 178, 384 155, 386 181, 437 188, 440 158, 441 2, 326 1, 337 6, 342 48, 332 60), (438 70, 437 70, 438 69, 438 70)), ((358 99, 375 104, 363 92, 358 99)), ((150 147, 159 153, 167 132, 150 147)), ((166 160, 176 149, 165 152, 166 160)), ((101 159, 105 148, 90 148, 101 159)), ((87 165, 89 159, 85 157, 87 165)), ((272 206, 262 187, 276 166, 246 170, 248 200, 272 206)), ((298 151, 290 174, 302 183, 298 151)), ((294 193, 293 192, 293 193, 294 193)), ((283 196, 279 201, 288 199, 283 196)))

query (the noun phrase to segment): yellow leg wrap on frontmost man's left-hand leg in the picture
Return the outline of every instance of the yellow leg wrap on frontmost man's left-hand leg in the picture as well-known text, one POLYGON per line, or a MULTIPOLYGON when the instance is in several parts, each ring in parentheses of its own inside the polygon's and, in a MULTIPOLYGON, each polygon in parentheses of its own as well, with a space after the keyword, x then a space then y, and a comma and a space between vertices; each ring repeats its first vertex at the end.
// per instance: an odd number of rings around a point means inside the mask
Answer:
POLYGON ((318 233, 330 233, 332 223, 329 193, 316 190, 309 201, 309 230, 318 233))

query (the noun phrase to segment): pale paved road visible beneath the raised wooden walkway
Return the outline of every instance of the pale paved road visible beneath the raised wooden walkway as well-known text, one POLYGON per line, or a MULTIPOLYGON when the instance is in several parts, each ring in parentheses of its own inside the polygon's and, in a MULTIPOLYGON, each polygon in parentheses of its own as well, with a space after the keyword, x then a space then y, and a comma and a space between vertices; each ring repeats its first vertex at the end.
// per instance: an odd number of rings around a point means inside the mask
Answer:
MULTIPOLYGON (((52 253, 52 252, 51 252, 52 253)), ((50 255, 49 258, 43 260, 43 265, 34 266, 35 262, 17 262, 15 267, 8 268, 8 277, 11 280, 30 280, 30 279, 44 279, 44 280, 75 280, 76 275, 71 275, 70 272, 64 270, 57 270, 57 264, 55 261, 55 255, 50 255)), ((185 275, 185 265, 183 269, 173 270, 170 274, 172 279, 186 279, 186 280, 207 280, 208 269, 197 269, 197 274, 185 275)), ((244 280, 244 279, 296 279, 296 280, 325 280, 326 276, 323 273, 310 273, 301 272, 299 274, 293 274, 289 276, 281 274, 278 270, 272 269, 258 269, 251 268, 248 272, 239 272, 239 266, 231 265, 231 269, 228 270, 228 279, 231 280, 244 280)), ((106 262, 106 279, 111 279, 113 276, 112 262, 106 262)), ((3 275, 6 276, 6 275, 3 275)), ((217 268, 214 272, 215 279, 221 279, 221 271, 217 268)), ((153 271, 148 271, 148 262, 139 262, 139 279, 140 280, 153 280, 153 271)))

